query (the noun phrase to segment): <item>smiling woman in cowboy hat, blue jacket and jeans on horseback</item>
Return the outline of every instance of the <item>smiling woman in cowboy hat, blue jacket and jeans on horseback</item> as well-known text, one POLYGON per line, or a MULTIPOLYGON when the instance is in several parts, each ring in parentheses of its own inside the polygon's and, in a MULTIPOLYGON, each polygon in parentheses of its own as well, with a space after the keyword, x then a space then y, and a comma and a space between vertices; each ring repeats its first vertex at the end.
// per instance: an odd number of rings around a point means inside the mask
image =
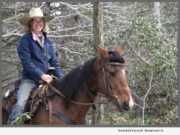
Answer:
POLYGON ((46 35, 46 19, 40 8, 32 8, 29 16, 24 16, 20 23, 27 26, 28 31, 22 36, 17 52, 23 67, 22 80, 17 93, 17 103, 12 109, 9 123, 15 124, 16 117, 24 111, 31 90, 40 80, 50 83, 52 77, 48 71, 54 69, 59 79, 62 71, 56 52, 46 35), (23 21, 22 21, 23 20, 23 21))

